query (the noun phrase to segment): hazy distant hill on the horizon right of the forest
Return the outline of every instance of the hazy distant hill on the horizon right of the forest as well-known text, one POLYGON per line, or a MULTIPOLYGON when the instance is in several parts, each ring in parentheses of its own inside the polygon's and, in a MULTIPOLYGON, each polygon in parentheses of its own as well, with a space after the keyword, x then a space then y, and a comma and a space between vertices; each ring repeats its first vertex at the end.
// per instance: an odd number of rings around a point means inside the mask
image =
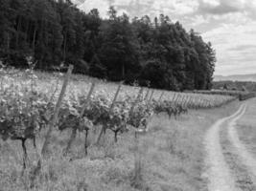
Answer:
POLYGON ((215 75, 214 81, 256 81, 256 74, 215 75))

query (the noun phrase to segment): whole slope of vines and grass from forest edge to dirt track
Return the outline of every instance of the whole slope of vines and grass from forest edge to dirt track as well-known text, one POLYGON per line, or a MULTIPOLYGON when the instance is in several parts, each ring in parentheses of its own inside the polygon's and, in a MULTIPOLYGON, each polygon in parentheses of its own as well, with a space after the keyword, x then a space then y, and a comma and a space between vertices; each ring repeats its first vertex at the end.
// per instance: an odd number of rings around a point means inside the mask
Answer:
POLYGON ((0 74, 4 84, 0 88, 0 190, 205 190, 206 181, 201 179, 205 131, 239 103, 234 100, 221 108, 209 108, 233 97, 125 85, 119 89, 116 83, 77 74, 68 81, 71 69, 65 77, 40 72, 32 76, 28 71, 0 74), (60 92, 65 96, 61 98, 60 92), (48 137, 49 158, 41 162, 57 99, 62 100, 58 101, 58 122, 48 137), (82 115, 81 106, 85 109, 82 115), (185 110, 181 113, 178 108, 185 110), (13 125, 5 128, 5 124, 13 125), (105 133, 101 133, 103 128, 105 133), (14 139, 16 135, 23 139, 14 139), (36 139, 35 148, 26 141, 27 135, 36 139), (42 165, 37 168, 36 163, 42 165))

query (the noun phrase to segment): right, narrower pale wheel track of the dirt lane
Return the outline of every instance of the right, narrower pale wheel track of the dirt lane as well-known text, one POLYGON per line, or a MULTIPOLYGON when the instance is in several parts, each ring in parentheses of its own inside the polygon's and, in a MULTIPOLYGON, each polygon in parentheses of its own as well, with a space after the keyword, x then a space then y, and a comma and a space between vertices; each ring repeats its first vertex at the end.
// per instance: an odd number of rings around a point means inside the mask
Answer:
MULTIPOLYGON (((233 146, 236 148, 236 152, 240 157, 241 161, 247 167, 248 171, 254 176, 254 181, 256 178, 256 159, 250 154, 245 145, 241 142, 237 129, 236 129, 236 121, 242 117, 245 113, 246 108, 244 108, 241 115, 235 117, 228 125, 228 136, 230 141, 232 142, 233 146)), ((254 182, 256 183, 256 182, 254 182)))

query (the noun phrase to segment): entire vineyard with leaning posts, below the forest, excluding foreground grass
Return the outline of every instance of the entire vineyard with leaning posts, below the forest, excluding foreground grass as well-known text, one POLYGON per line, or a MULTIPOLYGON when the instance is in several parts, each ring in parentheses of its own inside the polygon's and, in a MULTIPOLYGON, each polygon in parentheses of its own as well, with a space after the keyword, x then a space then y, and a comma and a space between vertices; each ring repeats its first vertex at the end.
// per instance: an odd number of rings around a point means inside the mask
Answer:
MULTIPOLYGON (((43 159, 50 156, 49 145, 53 131, 70 130, 63 144, 63 157, 70 156, 72 144, 79 134, 84 135, 84 156, 92 145, 99 145, 106 132, 111 132, 113 142, 119 135, 134 132, 135 140, 147 134, 149 123, 155 115, 178 117, 191 109, 220 107, 236 97, 185 94, 152 90, 142 87, 107 84, 104 81, 75 79, 72 66, 66 74, 36 74, 27 71, 1 70, 0 135, 2 140, 20 140, 23 149, 23 172, 27 168, 26 140, 46 132, 42 149, 38 153, 37 170, 43 159), (94 142, 88 135, 99 132, 94 142)), ((136 142, 135 141, 135 142, 136 142)), ((72 160, 72 159, 70 159, 72 160)), ((138 168, 135 163, 135 171, 138 168)), ((139 179, 135 175, 135 179, 139 179)), ((31 184, 34 187, 34 183, 31 184)))

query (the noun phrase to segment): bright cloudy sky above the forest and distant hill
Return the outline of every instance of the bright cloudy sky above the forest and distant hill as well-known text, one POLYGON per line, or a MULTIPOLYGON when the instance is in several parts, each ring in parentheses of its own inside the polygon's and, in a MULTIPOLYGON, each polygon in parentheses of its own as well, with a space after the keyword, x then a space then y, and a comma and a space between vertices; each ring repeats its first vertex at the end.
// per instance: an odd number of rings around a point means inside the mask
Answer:
POLYGON ((164 13, 200 32, 217 52, 215 74, 256 74, 256 0, 74 0, 102 17, 114 6, 130 17, 164 13))

